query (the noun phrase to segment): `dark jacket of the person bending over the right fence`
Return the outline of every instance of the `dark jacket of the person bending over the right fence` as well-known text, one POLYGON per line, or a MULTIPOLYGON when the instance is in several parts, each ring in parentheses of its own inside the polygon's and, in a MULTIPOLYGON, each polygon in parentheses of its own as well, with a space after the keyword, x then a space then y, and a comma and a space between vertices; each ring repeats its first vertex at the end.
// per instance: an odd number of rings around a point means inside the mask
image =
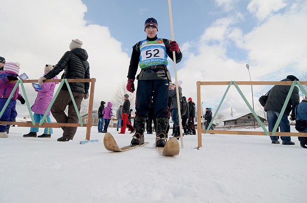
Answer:
MULTIPOLYGON (((283 79, 281 81, 291 81, 290 79, 283 79)), ((264 106, 264 110, 272 110, 280 113, 282 106, 286 100, 288 92, 290 90, 290 85, 275 85, 269 93, 269 97, 264 106)), ((294 87, 291 94, 290 100, 286 106, 286 109, 283 114, 290 115, 290 112, 295 109, 296 105, 299 104, 299 94, 298 87, 294 87)), ((294 114, 294 111, 292 111, 294 114)))

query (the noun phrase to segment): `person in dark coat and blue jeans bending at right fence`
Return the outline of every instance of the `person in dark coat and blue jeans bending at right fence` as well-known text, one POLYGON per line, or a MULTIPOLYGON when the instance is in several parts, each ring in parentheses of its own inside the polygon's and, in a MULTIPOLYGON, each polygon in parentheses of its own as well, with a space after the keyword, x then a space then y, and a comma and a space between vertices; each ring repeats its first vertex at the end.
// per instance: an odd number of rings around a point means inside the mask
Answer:
MULTIPOLYGON (((281 80, 281 81, 298 81, 298 79, 293 75, 288 75, 287 78, 281 80)), ((264 106, 264 110, 267 112, 267 120, 269 124, 269 132, 272 132, 274 129, 274 126, 277 122, 278 116, 281 112, 282 106, 286 100, 286 97, 288 95, 288 92, 290 90, 290 85, 275 85, 268 95, 267 102, 264 106)), ((288 116, 291 113, 291 120, 295 119, 295 113, 294 109, 296 105, 299 104, 299 94, 298 94, 298 88, 295 86, 293 89, 293 92, 290 96, 290 100, 287 103, 287 106, 285 108, 285 111, 281 117, 279 128, 280 132, 290 132, 290 123, 288 120, 288 116)), ((278 131, 278 128, 277 128, 278 131)), ((279 136, 270 136, 272 140, 272 144, 279 144, 278 141, 279 136)), ((281 136, 282 144, 285 145, 293 145, 294 142, 291 141, 290 136, 281 136)))

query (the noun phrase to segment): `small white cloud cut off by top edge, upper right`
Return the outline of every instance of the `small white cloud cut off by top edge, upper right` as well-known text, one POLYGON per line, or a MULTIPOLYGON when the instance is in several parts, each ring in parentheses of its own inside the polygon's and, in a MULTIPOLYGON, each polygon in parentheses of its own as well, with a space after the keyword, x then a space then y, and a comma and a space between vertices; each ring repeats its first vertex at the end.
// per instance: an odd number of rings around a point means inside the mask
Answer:
POLYGON ((284 7, 286 7, 285 0, 252 0, 247 9, 262 21, 284 7))

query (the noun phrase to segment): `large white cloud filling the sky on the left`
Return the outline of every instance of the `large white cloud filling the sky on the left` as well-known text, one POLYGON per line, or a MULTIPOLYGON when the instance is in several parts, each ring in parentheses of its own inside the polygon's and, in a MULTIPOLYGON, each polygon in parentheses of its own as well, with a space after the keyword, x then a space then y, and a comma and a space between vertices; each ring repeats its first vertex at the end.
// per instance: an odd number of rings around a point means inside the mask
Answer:
MULTIPOLYGON (((45 64, 56 64, 68 51, 71 39, 80 39, 89 54, 91 77, 96 78, 96 109, 101 100, 110 101, 115 90, 126 82, 129 57, 107 27, 86 25, 86 11, 81 1, 75 0, 2 3, 1 56, 7 62, 20 62, 21 73, 26 72, 30 79, 38 79, 43 75, 45 64)), ((32 87, 27 90, 31 104, 36 92, 32 87)))

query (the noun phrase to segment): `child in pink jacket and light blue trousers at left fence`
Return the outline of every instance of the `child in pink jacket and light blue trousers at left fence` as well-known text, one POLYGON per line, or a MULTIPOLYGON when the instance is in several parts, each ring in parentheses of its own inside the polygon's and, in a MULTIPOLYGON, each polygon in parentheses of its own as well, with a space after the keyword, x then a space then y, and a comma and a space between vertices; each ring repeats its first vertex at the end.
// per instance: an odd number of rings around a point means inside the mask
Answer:
MULTIPOLYGON (((48 64, 44 68, 45 74, 48 73, 50 70, 52 70, 54 66, 48 64)), ((58 79, 57 76, 55 76, 52 79, 58 79)), ((53 92, 55 85, 58 84, 58 82, 54 83, 43 83, 40 87, 42 89, 35 89, 37 92, 37 97, 35 99, 34 104, 31 106, 31 110, 34 112, 33 117, 36 123, 39 123, 41 119, 43 118, 51 100, 53 97, 53 92)), ((44 120, 44 123, 51 123, 50 120, 50 110, 44 120)), ((36 137, 38 132, 37 127, 31 127, 30 132, 28 134, 25 134, 23 137, 36 137)), ((51 137, 51 134, 53 133, 52 128, 45 127, 44 133, 41 135, 38 135, 37 137, 51 137)))

